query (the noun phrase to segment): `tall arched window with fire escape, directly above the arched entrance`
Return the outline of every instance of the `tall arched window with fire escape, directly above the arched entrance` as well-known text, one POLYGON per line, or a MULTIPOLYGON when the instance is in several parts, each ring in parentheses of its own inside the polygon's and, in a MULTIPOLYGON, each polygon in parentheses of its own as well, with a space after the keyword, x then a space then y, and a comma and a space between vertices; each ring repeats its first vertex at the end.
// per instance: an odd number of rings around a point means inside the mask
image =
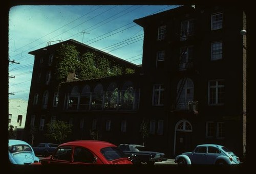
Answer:
POLYGON ((194 84, 189 78, 181 79, 177 85, 177 109, 188 110, 189 102, 193 102, 194 84))

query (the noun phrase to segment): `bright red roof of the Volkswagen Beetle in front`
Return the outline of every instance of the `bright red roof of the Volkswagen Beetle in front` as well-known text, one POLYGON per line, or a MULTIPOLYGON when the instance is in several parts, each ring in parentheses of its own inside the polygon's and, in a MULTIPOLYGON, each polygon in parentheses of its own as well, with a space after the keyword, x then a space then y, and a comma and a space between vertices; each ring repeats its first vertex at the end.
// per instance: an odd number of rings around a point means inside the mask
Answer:
POLYGON ((116 145, 110 142, 100 141, 100 140, 75 140, 75 141, 62 143, 59 145, 59 147, 60 146, 84 146, 89 149, 98 148, 100 150, 101 148, 104 148, 104 147, 116 146, 116 145))

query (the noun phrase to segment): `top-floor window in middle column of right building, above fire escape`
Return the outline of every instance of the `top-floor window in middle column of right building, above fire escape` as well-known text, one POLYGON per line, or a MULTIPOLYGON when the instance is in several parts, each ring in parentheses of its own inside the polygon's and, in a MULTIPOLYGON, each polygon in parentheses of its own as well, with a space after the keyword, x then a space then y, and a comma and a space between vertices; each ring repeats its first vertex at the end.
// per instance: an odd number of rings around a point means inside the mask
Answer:
POLYGON ((180 37, 184 38, 187 36, 194 35, 195 33, 195 20, 185 20, 181 22, 181 31, 180 31, 180 37))

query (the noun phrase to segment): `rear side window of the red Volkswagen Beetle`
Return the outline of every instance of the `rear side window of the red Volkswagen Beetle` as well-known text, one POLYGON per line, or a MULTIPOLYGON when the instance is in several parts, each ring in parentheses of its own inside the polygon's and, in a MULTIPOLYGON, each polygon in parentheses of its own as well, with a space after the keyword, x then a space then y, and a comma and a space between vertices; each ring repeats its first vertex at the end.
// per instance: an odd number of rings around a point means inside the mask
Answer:
POLYGON ((86 148, 76 147, 74 151, 74 162, 94 163, 94 155, 86 148))

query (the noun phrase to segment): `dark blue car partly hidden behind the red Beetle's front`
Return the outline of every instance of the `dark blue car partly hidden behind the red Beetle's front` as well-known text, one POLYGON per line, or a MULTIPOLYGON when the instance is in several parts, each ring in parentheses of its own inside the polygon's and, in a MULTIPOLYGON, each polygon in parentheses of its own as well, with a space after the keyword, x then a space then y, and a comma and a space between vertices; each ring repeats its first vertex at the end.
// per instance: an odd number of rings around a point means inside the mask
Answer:
POLYGON ((47 157, 52 155, 55 149, 59 146, 59 144, 54 143, 40 143, 36 147, 32 147, 35 155, 41 155, 43 157, 47 157))

